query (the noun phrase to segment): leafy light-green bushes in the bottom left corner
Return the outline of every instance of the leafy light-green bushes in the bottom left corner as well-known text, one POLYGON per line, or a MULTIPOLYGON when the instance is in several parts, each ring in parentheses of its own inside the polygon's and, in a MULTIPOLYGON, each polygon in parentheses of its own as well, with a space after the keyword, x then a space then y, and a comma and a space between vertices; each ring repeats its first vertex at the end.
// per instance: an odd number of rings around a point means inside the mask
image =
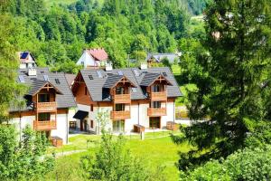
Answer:
POLYGON ((18 142, 13 126, 0 125, 0 179, 37 180, 53 168, 53 158, 44 156, 47 138, 32 129, 23 129, 18 142))

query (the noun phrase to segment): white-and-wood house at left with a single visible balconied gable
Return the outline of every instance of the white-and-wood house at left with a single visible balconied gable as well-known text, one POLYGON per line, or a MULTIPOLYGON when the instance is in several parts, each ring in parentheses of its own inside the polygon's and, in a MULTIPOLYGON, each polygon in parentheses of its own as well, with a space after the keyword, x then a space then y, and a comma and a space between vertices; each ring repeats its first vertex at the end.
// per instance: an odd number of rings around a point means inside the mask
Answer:
POLYGON ((48 68, 20 69, 19 83, 29 87, 22 98, 23 107, 9 111, 18 130, 26 125, 43 131, 48 138, 58 138, 65 144, 69 135, 69 111, 76 107, 64 73, 53 73, 48 68))

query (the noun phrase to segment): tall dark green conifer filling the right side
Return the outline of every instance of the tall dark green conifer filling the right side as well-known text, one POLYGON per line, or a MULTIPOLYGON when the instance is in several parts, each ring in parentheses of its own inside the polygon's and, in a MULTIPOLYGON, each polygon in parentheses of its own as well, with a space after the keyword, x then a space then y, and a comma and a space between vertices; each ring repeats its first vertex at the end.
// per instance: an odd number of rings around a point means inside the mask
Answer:
POLYGON ((209 121, 182 128, 184 136, 173 137, 197 148, 181 154, 180 169, 227 157, 248 144, 248 135, 260 137, 255 130, 261 132, 262 122, 270 121, 270 9, 267 0, 208 5, 202 41, 206 51, 193 43, 192 62, 186 63, 191 67, 184 72, 197 86, 189 95, 190 117, 209 121))

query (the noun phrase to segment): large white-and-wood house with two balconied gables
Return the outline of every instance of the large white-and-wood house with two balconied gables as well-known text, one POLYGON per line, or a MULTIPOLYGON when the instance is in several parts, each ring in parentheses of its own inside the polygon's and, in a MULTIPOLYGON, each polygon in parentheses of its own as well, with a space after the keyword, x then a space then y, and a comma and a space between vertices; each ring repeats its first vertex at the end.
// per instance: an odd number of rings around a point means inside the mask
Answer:
POLYGON ((109 112, 107 128, 129 132, 163 129, 174 121, 175 99, 182 96, 169 68, 79 71, 73 86, 80 130, 98 133, 97 112, 109 112))

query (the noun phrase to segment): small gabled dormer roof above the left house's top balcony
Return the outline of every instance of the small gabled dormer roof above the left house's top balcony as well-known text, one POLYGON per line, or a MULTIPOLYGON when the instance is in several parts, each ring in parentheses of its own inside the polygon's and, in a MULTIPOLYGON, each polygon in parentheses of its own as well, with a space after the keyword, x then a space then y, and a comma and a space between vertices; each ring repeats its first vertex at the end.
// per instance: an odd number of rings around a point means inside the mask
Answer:
POLYGON ((42 81, 42 80, 34 80, 30 86, 30 90, 28 92, 28 95, 34 96, 37 93, 39 93, 42 88, 44 88, 46 85, 49 85, 52 87, 56 93, 62 94, 61 90, 58 90, 54 85, 52 85, 49 81, 42 81))

